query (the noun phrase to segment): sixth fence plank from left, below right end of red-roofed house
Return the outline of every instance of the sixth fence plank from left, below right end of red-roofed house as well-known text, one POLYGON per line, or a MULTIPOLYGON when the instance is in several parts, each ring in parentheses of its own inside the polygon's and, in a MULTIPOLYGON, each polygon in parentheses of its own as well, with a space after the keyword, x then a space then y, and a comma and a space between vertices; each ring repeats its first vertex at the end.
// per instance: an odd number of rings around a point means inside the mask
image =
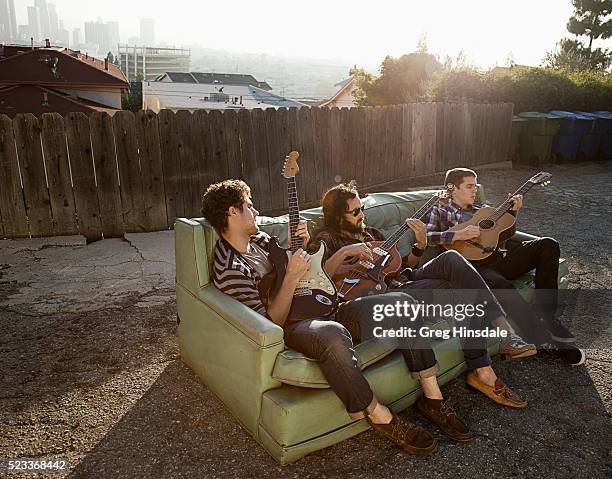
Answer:
POLYGON ((112 122, 125 231, 128 233, 146 231, 134 113, 131 111, 117 112, 112 117, 112 122))

